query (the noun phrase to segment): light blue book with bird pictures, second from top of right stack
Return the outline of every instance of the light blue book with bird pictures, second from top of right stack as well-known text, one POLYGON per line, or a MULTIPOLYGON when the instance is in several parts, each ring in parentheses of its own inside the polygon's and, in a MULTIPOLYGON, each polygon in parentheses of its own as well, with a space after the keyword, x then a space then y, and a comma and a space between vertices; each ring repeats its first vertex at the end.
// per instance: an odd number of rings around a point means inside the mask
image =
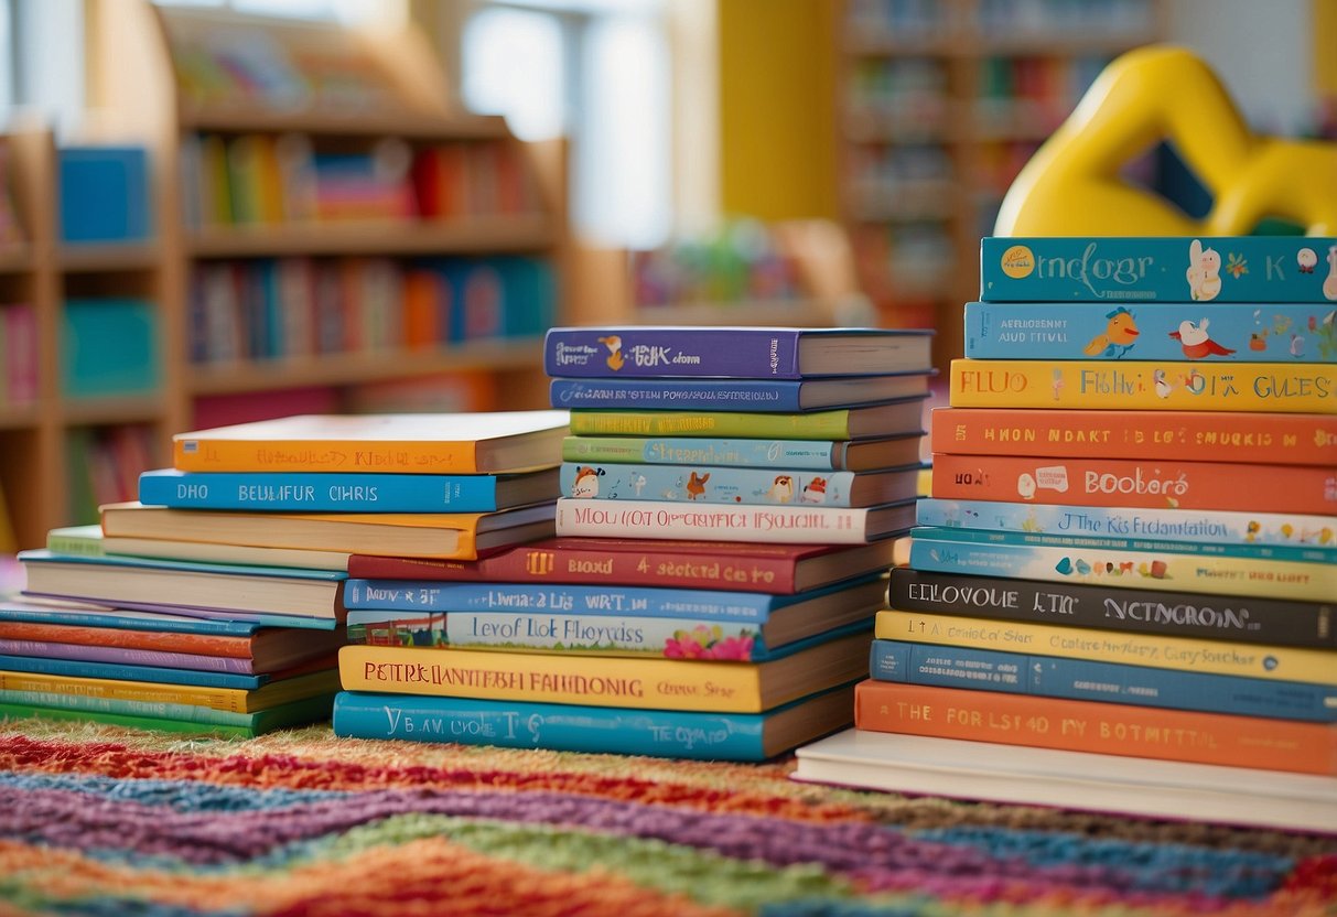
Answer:
POLYGON ((1337 362, 1337 303, 967 302, 965 356, 1337 362))

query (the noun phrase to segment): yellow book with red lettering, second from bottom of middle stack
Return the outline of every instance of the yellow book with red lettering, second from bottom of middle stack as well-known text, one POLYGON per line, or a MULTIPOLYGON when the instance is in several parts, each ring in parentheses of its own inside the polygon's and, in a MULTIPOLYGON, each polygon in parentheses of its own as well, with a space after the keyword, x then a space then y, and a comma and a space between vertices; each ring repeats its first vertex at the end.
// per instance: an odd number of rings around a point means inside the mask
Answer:
POLYGON ((866 631, 763 663, 346 646, 345 691, 763 712, 868 674, 866 631))

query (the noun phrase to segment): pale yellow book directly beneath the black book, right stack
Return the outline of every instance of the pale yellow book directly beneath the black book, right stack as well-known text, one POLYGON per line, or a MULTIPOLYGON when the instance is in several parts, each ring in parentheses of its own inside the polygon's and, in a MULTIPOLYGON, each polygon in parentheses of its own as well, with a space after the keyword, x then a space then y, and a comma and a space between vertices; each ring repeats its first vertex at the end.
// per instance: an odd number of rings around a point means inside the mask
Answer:
POLYGON ((1095 631, 1063 624, 997 623, 981 618, 880 611, 880 640, 940 643, 972 650, 1042 652, 1126 666, 1238 675, 1280 682, 1337 684, 1337 667, 1326 650, 1221 643, 1187 636, 1095 631))

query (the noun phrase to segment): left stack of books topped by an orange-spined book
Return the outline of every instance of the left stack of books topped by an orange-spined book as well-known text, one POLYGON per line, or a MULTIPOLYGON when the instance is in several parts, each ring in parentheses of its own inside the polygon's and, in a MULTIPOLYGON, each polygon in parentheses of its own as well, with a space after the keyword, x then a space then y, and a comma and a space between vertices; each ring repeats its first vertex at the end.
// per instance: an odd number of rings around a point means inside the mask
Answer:
POLYGON ((183 433, 100 527, 20 555, 0 714, 255 735, 328 719, 354 551, 552 533, 564 412, 303 416, 183 433))

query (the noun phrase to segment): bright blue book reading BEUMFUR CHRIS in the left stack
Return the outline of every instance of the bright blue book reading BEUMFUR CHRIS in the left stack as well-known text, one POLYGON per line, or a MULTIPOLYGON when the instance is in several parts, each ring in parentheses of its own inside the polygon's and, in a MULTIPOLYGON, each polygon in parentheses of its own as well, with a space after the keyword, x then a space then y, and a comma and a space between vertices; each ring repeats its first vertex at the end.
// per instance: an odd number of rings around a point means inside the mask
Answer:
POLYGON ((556 469, 528 475, 374 475, 164 468, 139 476, 140 503, 175 509, 473 513, 556 496, 556 469))

